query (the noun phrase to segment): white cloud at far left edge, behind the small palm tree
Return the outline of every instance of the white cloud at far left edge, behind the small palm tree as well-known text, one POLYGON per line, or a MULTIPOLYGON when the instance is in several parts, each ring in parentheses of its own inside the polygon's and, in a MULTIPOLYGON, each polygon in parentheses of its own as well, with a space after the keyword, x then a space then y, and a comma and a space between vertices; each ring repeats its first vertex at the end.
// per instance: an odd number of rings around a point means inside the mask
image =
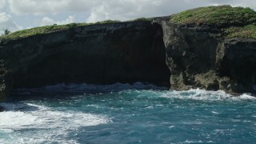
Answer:
POLYGON ((0 13, 0 30, 8 29, 10 31, 21 30, 22 26, 18 26, 10 16, 5 12, 0 13))

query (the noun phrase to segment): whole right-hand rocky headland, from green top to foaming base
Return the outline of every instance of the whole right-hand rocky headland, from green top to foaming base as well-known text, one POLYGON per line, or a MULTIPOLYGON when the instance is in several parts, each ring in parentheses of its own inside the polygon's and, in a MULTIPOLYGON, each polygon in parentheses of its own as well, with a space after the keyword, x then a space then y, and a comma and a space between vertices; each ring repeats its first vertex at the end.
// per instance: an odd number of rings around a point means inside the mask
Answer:
POLYGON ((210 6, 154 19, 154 22, 162 26, 172 90, 201 88, 225 90, 232 94, 255 92, 256 39, 243 37, 254 37, 252 31, 256 30, 256 26, 250 26, 248 30, 247 25, 256 22, 256 13, 248 11, 251 15, 247 14, 247 9, 240 7, 210 6), (210 12, 200 19, 201 12, 206 10, 210 12), (210 19, 216 17, 219 11, 222 14, 221 12, 229 10, 230 13, 218 16, 216 22, 214 18, 210 19), (228 19, 239 10, 241 13, 246 10, 244 15, 247 17, 241 18, 245 22, 235 22, 235 18, 234 21, 228 19), (237 25, 238 27, 234 27, 237 25), (230 29, 237 31, 230 32, 230 29), (231 38, 232 35, 228 34, 236 35, 231 38))

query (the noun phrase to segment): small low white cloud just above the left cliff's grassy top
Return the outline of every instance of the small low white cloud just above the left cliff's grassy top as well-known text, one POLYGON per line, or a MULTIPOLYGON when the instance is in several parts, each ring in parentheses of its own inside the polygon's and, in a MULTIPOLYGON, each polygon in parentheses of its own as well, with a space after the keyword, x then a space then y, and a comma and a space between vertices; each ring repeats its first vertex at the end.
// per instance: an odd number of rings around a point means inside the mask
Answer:
POLYGON ((53 24, 64 25, 67 23, 72 23, 74 22, 74 20, 75 20, 74 16, 69 16, 68 18, 62 21, 54 21, 52 18, 44 17, 40 22, 40 26, 49 26, 53 24))

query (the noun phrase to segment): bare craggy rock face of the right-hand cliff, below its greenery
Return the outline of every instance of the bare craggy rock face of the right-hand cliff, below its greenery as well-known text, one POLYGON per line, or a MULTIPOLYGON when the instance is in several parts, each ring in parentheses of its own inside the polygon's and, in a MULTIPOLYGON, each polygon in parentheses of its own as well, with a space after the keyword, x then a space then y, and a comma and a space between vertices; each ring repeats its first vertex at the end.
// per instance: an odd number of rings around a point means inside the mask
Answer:
POLYGON ((254 92, 256 40, 226 38, 217 26, 177 25, 155 18, 163 30, 170 88, 254 92))

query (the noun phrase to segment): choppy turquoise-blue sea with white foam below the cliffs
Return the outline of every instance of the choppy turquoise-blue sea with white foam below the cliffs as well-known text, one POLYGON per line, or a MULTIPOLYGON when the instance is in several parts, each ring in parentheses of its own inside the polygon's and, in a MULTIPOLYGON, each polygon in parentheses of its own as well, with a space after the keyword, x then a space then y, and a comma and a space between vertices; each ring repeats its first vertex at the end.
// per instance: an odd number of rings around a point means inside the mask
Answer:
POLYGON ((14 90, 0 143, 256 143, 256 98, 142 83, 14 90))

